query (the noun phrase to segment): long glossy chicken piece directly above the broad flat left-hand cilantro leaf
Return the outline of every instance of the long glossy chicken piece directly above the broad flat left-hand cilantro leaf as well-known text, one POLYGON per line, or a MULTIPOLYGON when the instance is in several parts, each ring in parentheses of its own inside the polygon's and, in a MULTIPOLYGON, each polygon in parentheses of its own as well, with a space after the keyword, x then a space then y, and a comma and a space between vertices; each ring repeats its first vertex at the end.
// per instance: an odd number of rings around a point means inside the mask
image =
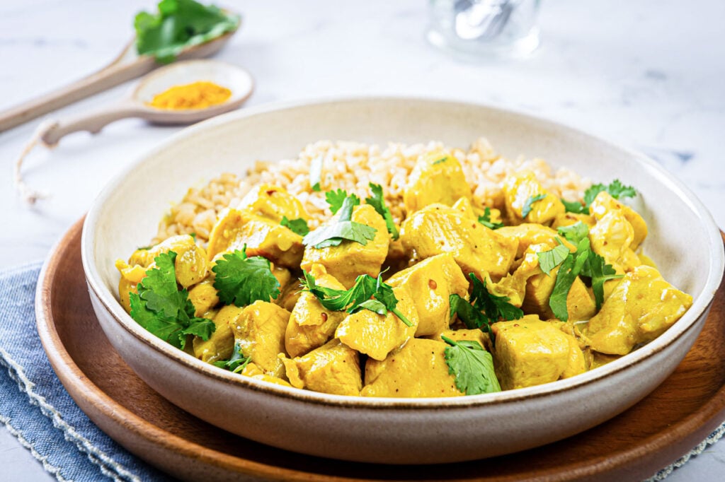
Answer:
POLYGON ((245 211, 228 209, 209 235, 207 256, 242 250, 247 256, 263 256, 276 265, 296 269, 302 259, 302 236, 273 221, 245 211))

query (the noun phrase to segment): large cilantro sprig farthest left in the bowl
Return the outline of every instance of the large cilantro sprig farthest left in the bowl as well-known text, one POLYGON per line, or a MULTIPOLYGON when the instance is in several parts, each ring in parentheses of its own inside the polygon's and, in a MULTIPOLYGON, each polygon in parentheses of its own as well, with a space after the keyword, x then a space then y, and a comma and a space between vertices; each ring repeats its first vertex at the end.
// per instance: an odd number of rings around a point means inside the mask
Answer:
POLYGON ((161 253, 154 261, 156 268, 130 292, 130 316, 136 323, 177 348, 186 346, 186 335, 209 339, 216 326, 207 318, 194 316, 194 303, 186 289, 178 289, 174 262, 176 253, 161 253))

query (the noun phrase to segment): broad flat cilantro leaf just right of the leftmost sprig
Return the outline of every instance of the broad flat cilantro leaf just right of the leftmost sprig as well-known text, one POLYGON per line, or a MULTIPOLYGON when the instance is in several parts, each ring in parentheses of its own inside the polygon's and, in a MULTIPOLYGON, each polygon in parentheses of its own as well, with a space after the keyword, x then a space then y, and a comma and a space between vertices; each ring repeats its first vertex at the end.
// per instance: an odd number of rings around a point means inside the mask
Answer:
POLYGON ((240 308, 257 300, 269 301, 280 294, 280 284, 272 274, 270 262, 262 256, 247 258, 247 245, 233 253, 225 253, 212 271, 216 274, 214 287, 225 305, 240 308))

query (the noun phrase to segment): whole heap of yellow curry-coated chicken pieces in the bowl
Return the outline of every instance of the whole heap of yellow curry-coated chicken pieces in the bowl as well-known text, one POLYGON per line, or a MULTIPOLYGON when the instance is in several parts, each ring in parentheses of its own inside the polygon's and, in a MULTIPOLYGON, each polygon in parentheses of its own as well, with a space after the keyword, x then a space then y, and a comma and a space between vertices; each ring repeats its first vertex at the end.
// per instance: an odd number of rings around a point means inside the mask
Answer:
POLYGON ((377 208, 360 202, 347 221, 341 221, 343 204, 312 233, 349 222, 373 229, 364 242, 311 245, 289 222, 310 219, 302 203, 282 187, 262 184, 220 214, 206 245, 178 235, 137 250, 128 263, 118 261, 120 300, 130 310, 129 297, 156 268, 154 260, 173 251, 176 282, 188 289, 194 316, 214 325, 208 339, 188 335, 189 353, 210 363, 243 359, 235 365, 242 376, 373 397, 471 393, 462 389, 445 339, 490 353, 496 380, 488 391, 565 379, 650 342, 692 304, 639 253, 647 237, 642 217, 606 190, 588 209, 567 212, 523 171, 505 179, 503 194, 501 209, 474 206, 457 159, 428 153, 408 179, 399 239, 377 208), (579 239, 568 235, 575 231, 579 239), (235 250, 268 260, 278 295, 242 306, 220 302, 212 269, 235 250), (586 262, 580 253, 589 256, 586 262), (575 263, 580 274, 560 274, 575 263), (381 271, 397 300, 395 313, 331 309, 300 284, 309 276, 318 289, 345 292, 358 276, 381 271), (560 276, 570 279, 556 305, 560 276), (506 313, 519 315, 501 315, 487 332, 465 326, 465 310, 454 306, 452 313, 452 303, 481 308, 473 300, 481 287, 505 300, 506 313))

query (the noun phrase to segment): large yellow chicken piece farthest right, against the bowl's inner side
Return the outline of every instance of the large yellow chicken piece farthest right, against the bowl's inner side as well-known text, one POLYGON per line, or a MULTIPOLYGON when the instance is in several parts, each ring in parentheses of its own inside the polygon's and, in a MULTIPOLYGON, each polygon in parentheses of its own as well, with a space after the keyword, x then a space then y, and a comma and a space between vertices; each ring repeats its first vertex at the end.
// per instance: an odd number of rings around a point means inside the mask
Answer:
POLYGON ((692 296, 666 282, 659 271, 637 266, 624 275, 584 334, 592 350, 626 355, 663 334, 691 305, 692 296))

